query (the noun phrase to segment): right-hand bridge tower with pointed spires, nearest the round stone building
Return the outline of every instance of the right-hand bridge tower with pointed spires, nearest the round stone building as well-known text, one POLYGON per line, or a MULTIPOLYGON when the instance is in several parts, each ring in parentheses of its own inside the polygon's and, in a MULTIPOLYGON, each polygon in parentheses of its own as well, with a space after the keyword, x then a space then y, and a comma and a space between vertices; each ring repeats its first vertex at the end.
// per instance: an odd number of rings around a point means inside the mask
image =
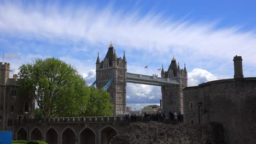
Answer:
POLYGON ((162 110, 165 113, 170 111, 183 113, 183 92, 182 89, 188 86, 188 73, 186 66, 184 69, 179 68, 176 59, 173 57, 167 71, 162 67, 161 77, 168 79, 178 79, 179 85, 162 86, 162 110))

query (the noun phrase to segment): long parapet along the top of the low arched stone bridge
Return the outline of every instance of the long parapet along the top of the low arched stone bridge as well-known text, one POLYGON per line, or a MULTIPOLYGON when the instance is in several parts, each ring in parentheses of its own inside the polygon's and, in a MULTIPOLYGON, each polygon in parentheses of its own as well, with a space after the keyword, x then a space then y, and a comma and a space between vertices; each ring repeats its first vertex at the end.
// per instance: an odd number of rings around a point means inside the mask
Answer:
POLYGON ((103 123, 103 122, 178 122, 177 119, 170 119, 170 117, 154 118, 136 116, 127 118, 125 116, 118 117, 61 117, 61 118, 34 118, 34 119, 17 119, 16 123, 103 123))

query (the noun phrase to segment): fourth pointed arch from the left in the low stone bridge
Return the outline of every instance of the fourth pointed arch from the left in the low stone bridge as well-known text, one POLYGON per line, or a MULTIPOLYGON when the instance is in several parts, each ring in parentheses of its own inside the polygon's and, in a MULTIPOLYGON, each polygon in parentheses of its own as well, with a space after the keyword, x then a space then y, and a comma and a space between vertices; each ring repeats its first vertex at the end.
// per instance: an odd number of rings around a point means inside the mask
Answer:
POLYGON ((71 127, 66 127, 61 132, 61 143, 62 144, 71 144, 76 143, 77 135, 71 127))

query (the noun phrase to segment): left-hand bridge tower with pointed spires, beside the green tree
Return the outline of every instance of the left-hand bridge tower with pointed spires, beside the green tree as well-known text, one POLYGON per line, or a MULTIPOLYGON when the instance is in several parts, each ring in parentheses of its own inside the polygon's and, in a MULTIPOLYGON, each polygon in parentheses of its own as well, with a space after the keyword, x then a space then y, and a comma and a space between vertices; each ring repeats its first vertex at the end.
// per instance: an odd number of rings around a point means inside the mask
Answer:
POLYGON ((114 105, 114 116, 126 113, 126 65, 125 52, 123 59, 118 58, 113 44, 109 45, 103 61, 100 61, 99 56, 96 61, 96 87, 102 88, 110 79, 114 79, 108 88, 114 105))

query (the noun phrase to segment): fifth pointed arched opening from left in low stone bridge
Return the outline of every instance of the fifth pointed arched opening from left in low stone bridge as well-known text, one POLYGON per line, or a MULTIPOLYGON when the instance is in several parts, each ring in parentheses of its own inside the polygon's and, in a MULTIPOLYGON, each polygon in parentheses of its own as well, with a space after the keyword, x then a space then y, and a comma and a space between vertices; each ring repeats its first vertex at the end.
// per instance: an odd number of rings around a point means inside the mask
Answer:
POLYGON ((82 133, 80 133, 79 137, 80 144, 96 143, 94 131, 89 128, 84 129, 82 133))

